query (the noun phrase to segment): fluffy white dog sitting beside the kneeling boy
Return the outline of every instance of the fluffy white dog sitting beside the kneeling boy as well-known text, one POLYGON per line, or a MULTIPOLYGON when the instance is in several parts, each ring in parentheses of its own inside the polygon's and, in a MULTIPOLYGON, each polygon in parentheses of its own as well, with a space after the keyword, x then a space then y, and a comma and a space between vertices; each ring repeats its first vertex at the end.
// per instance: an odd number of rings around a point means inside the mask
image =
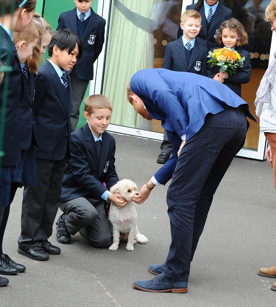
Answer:
POLYGON ((111 193, 118 193, 127 200, 127 204, 123 208, 118 208, 111 203, 109 211, 109 221, 113 227, 113 244, 109 246, 111 251, 116 251, 119 246, 120 233, 121 239, 128 238, 126 249, 133 251, 133 244, 137 242, 148 243, 148 239, 141 235, 137 228, 137 213, 135 210, 132 196, 137 191, 137 185, 129 180, 123 179, 118 181, 113 187, 110 188, 111 193))

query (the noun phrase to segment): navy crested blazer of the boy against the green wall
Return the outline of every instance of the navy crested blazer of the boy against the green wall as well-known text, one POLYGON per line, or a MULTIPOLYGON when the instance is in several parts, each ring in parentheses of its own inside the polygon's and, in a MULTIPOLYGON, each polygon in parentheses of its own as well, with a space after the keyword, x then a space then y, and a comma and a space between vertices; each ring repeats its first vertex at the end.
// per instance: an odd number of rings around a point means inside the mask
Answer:
MULTIPOLYGON (((78 34, 77 18, 76 7, 72 11, 61 13, 56 29, 67 28, 78 34)), ((81 59, 76 63, 76 72, 80 79, 93 80, 93 64, 99 57, 104 44, 105 23, 105 19, 96 14, 91 8, 91 15, 87 28, 83 37, 80 37, 83 42, 83 53, 81 59), (90 38, 94 35, 94 42, 91 44, 89 41, 91 42, 90 38)))

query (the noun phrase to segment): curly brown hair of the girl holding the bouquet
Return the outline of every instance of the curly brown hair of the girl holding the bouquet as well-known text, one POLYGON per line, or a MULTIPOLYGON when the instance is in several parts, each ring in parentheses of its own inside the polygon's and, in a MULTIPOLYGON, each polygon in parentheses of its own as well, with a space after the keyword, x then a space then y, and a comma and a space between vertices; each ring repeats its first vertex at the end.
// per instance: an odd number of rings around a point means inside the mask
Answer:
POLYGON ((238 35, 236 46, 246 45, 248 43, 247 33, 245 31, 245 27, 235 18, 231 18, 230 20, 225 20, 222 22, 219 28, 219 32, 216 36, 216 41, 222 45, 222 30, 229 29, 230 31, 236 32, 238 35))

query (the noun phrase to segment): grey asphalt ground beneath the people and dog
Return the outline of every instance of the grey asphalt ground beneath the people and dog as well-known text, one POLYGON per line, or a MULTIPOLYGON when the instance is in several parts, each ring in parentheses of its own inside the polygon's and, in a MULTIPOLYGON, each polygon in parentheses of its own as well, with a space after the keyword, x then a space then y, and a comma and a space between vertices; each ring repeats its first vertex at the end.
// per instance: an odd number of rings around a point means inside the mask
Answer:
MULTIPOLYGON (((160 142, 114 134, 116 170, 140 188, 161 166, 156 163, 160 142)), ((196 165, 195 165, 196 167, 196 165)), ((4 236, 4 253, 27 267, 7 276, 0 287, 0 306, 110 306, 110 307, 274 307, 276 279, 257 275, 275 259, 275 189, 266 161, 235 158, 216 194, 191 264, 187 294, 148 293, 133 288, 134 280, 154 276, 152 263, 166 260, 170 245, 165 187, 156 187, 149 199, 136 205, 138 228, 148 244, 134 251, 122 242, 117 251, 93 247, 80 234, 71 245, 56 242, 60 255, 34 261, 17 253, 22 190, 17 191, 4 236)), ((57 216, 60 215, 60 211, 57 216)), ((179 242, 181 244, 181 242, 179 242)))

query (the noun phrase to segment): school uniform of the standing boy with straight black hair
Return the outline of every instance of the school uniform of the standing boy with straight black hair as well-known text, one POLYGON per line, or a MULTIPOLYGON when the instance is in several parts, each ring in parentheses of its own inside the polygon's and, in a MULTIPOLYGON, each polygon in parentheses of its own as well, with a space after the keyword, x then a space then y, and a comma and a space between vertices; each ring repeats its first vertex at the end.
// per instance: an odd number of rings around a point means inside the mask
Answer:
POLYGON ((33 112, 39 143, 35 147, 37 186, 24 188, 20 250, 48 242, 60 203, 63 172, 70 158, 72 107, 70 76, 65 74, 65 87, 61 75, 62 71, 46 60, 34 80, 33 112))

